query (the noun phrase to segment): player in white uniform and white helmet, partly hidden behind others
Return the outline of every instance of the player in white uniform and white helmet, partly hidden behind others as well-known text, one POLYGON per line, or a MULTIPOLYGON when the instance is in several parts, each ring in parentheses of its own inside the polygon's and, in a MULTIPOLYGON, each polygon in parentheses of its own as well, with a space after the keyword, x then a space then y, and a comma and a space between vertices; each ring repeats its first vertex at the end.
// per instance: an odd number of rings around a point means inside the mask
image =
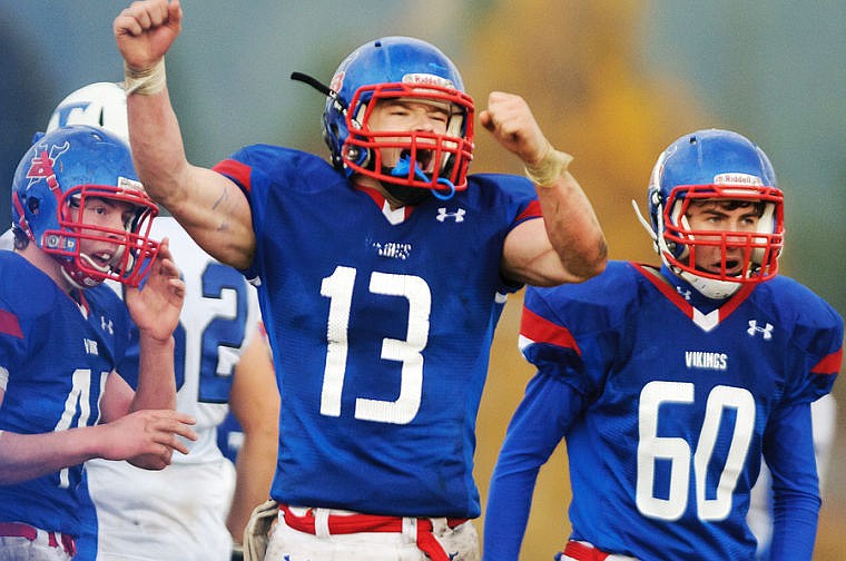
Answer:
MULTIPOLYGON (((102 127, 128 142, 121 85, 94 82, 72 91, 53 110, 47 130, 77 124, 102 127)), ((83 553, 96 550, 99 561, 228 561, 249 511, 267 499, 276 457, 278 396, 258 329, 258 302, 243 275, 200 249, 173 217, 156 217, 150 236, 168 238, 186 284, 175 332, 176 409, 196 420, 197 440, 186 442, 189 453, 175 456, 164 471, 88 462, 98 531, 78 545, 83 553), (230 407, 248 429, 237 475, 216 443, 230 407)), ((119 286, 112 284, 120 294, 119 286)), ((135 384, 136 329, 119 372, 135 384)))

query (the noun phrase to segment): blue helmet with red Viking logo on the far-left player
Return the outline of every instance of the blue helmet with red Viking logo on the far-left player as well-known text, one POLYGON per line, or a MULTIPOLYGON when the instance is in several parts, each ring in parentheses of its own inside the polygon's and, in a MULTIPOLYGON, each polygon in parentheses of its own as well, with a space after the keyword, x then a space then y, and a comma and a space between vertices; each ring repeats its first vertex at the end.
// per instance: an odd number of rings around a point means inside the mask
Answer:
POLYGON ((79 288, 106 279, 138 286, 159 252, 149 238, 157 214, 135 174, 128 145, 101 127, 47 132, 23 155, 12 180, 13 226, 58 259, 79 288), (91 198, 126 203, 134 216, 124 228, 86 224, 81 209, 91 198), (83 245, 97 242, 111 248, 83 253, 83 245))

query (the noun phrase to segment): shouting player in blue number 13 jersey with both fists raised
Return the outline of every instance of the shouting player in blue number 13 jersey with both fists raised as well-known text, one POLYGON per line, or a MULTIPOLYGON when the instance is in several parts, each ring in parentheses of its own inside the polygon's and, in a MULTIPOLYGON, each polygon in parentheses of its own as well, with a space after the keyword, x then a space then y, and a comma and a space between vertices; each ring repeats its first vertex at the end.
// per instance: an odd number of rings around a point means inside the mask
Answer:
POLYGON ((386 37, 328 87, 297 75, 327 95, 331 163, 258 145, 193 166, 164 73, 180 24, 164 0, 115 20, 129 136, 151 196, 259 283, 283 396, 265 559, 478 559, 474 424, 502 298, 606 264, 570 157, 522 98, 495 92, 480 120, 533 181, 468 176, 474 105, 458 69, 386 37))

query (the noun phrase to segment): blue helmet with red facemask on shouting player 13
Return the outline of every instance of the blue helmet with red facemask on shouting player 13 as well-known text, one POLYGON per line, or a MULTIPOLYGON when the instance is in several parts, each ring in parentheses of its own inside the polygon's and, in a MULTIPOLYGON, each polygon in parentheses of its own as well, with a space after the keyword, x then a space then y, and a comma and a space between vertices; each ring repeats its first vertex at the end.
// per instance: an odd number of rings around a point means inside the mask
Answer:
POLYGON ((385 37, 353 51, 337 68, 323 112, 323 138, 333 165, 391 186, 432 189, 446 197, 466 188, 473 157, 473 99, 452 61, 432 45, 385 37), (375 101, 403 98, 449 110, 445 134, 371 130, 375 101), (401 163, 383 165, 381 148, 401 150, 401 163))

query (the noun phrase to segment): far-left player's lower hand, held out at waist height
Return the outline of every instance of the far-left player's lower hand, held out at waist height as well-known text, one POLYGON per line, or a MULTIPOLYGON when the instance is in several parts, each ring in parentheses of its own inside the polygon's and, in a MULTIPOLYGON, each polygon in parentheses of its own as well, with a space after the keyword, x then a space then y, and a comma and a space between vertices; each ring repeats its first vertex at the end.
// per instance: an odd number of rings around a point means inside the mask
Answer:
POLYGON ((142 410, 100 425, 99 439, 106 460, 128 460, 147 470, 161 470, 170 464, 174 451, 188 453, 183 436, 197 440, 190 427, 193 416, 173 410, 142 410))

